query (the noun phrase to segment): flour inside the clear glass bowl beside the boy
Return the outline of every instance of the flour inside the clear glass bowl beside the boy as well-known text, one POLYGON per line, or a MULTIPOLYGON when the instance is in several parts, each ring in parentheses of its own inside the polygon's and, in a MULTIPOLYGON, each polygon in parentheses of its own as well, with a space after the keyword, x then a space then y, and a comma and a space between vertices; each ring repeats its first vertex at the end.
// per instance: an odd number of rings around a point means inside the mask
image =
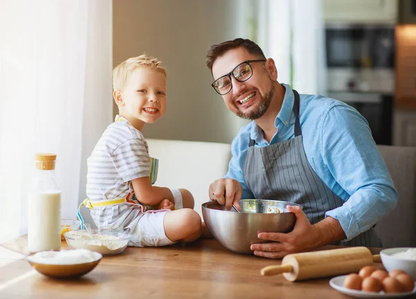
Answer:
POLYGON ((91 239, 88 233, 67 233, 67 242, 71 248, 85 248, 102 255, 120 253, 128 244, 128 240, 114 235, 93 235, 93 237, 94 239, 91 239))

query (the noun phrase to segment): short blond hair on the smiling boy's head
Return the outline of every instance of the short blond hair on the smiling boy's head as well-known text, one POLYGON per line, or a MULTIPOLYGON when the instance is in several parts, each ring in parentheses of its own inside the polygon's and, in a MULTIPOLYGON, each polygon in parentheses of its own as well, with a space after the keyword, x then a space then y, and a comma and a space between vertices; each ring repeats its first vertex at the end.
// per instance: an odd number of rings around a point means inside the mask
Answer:
POLYGON ((166 68, 160 60, 144 53, 137 57, 131 57, 114 68, 112 71, 113 89, 122 89, 127 81, 128 75, 139 67, 155 69, 167 75, 166 68))

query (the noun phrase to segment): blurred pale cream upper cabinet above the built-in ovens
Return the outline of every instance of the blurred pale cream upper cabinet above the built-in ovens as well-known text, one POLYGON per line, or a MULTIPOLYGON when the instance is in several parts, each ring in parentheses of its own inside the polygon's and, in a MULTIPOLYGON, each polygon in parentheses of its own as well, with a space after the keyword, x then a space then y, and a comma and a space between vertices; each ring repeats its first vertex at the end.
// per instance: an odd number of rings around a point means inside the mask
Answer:
POLYGON ((397 13, 397 0, 324 0, 327 23, 395 24, 397 13))

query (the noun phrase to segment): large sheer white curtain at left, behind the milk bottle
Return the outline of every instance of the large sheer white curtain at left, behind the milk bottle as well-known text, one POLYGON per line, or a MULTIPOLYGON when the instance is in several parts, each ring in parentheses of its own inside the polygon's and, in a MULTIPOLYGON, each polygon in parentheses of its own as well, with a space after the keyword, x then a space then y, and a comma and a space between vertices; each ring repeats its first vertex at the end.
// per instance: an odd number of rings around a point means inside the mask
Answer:
POLYGON ((112 120, 111 0, 0 0, 0 243, 27 231, 36 152, 57 154, 62 218, 112 120))

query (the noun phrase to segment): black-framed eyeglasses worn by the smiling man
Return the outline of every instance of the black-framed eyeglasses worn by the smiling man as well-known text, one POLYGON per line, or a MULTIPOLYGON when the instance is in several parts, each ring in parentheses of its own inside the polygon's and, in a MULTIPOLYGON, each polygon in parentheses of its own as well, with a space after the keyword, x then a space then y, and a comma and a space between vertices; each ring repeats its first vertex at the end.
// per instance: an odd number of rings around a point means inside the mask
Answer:
POLYGON ((232 89, 232 81, 231 76, 234 77, 235 80, 239 82, 244 82, 249 80, 253 75, 253 69, 250 66, 250 62, 265 62, 266 60, 246 60, 245 62, 241 62, 238 66, 236 66, 232 71, 227 73, 227 75, 223 75, 223 77, 218 78, 215 80, 211 86, 214 87, 215 91, 219 93, 221 96, 229 93, 232 89))

